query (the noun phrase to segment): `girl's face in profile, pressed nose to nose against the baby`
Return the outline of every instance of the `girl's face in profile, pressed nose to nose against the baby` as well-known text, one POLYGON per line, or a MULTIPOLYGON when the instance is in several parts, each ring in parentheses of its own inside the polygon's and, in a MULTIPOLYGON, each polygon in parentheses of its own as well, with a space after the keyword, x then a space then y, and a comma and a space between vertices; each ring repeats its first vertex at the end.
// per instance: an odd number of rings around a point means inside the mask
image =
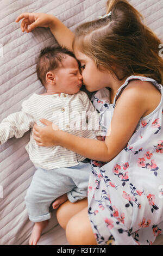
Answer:
POLYGON ((82 52, 77 51, 76 57, 81 63, 83 84, 89 92, 109 87, 111 74, 108 70, 98 70, 95 62, 82 52))

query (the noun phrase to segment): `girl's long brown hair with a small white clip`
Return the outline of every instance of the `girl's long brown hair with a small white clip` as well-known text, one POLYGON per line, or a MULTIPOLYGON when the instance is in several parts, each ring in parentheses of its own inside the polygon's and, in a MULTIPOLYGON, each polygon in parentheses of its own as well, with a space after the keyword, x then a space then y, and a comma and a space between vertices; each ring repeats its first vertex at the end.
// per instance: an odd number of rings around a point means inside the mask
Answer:
POLYGON ((103 66, 118 80, 130 75, 143 75, 161 83, 161 41, 128 1, 108 0, 106 14, 110 11, 109 17, 86 22, 76 29, 74 52, 83 52, 95 61, 98 69, 103 66))

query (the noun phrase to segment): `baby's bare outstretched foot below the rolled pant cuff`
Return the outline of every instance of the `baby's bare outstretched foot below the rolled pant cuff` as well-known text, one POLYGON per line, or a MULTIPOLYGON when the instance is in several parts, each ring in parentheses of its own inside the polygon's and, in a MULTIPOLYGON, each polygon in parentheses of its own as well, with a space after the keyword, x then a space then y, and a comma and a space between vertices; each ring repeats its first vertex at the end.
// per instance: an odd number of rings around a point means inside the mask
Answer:
POLYGON ((29 239, 29 245, 37 244, 37 242, 40 239, 42 230, 46 228, 47 224, 48 224, 48 220, 35 223, 33 230, 32 230, 32 234, 29 239))

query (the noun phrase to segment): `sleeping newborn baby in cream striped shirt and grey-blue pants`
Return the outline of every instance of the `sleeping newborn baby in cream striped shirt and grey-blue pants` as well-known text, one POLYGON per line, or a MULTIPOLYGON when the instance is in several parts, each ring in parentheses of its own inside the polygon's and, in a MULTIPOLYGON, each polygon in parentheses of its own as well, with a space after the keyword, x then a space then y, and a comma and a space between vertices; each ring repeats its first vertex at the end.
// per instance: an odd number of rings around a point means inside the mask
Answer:
MULTIPOLYGON (((74 54, 66 48, 46 47, 40 53, 36 70, 46 93, 34 93, 23 101, 20 112, 2 121, 1 144, 11 137, 22 137, 35 123, 43 126, 40 118, 52 121, 54 129, 58 127, 73 135, 91 139, 100 136, 99 127, 91 126, 99 123, 99 116, 86 93, 80 91, 83 81, 74 54), (87 117, 91 121, 94 118, 91 125, 87 124, 87 117)), ((36 167, 25 197, 29 220, 35 222, 29 244, 36 245, 51 218, 49 206, 55 199, 53 208, 57 209, 67 198, 74 203, 87 197, 91 164, 85 157, 60 146, 39 147, 33 132, 26 150, 36 167)))

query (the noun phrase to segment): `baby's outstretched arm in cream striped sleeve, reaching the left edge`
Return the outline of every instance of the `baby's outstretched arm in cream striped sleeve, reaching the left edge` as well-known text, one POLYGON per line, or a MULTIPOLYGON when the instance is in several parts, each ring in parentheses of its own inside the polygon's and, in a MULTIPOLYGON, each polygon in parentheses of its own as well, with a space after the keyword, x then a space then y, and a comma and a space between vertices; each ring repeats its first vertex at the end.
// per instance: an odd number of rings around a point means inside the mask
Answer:
POLYGON ((0 144, 12 137, 20 138, 34 125, 34 119, 22 105, 22 111, 8 115, 0 124, 0 144))

